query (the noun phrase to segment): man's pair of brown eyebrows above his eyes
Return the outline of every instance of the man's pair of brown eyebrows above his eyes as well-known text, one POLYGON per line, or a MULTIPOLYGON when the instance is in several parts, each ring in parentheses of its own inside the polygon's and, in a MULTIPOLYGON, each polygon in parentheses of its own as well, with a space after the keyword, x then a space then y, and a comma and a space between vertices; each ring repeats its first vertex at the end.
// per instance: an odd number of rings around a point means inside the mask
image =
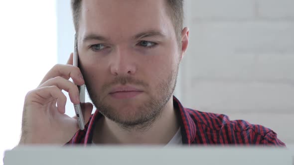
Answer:
MULTIPOLYGON (((165 35, 163 33, 161 33, 160 31, 148 30, 148 31, 136 34, 133 38, 134 39, 142 39, 142 38, 146 38, 146 37, 165 37, 165 35)), ((102 35, 97 35, 97 34, 93 34, 93 33, 86 34, 85 37, 82 39, 82 41, 84 43, 87 41, 90 41, 90 40, 109 41, 108 38, 106 38, 102 35)))

